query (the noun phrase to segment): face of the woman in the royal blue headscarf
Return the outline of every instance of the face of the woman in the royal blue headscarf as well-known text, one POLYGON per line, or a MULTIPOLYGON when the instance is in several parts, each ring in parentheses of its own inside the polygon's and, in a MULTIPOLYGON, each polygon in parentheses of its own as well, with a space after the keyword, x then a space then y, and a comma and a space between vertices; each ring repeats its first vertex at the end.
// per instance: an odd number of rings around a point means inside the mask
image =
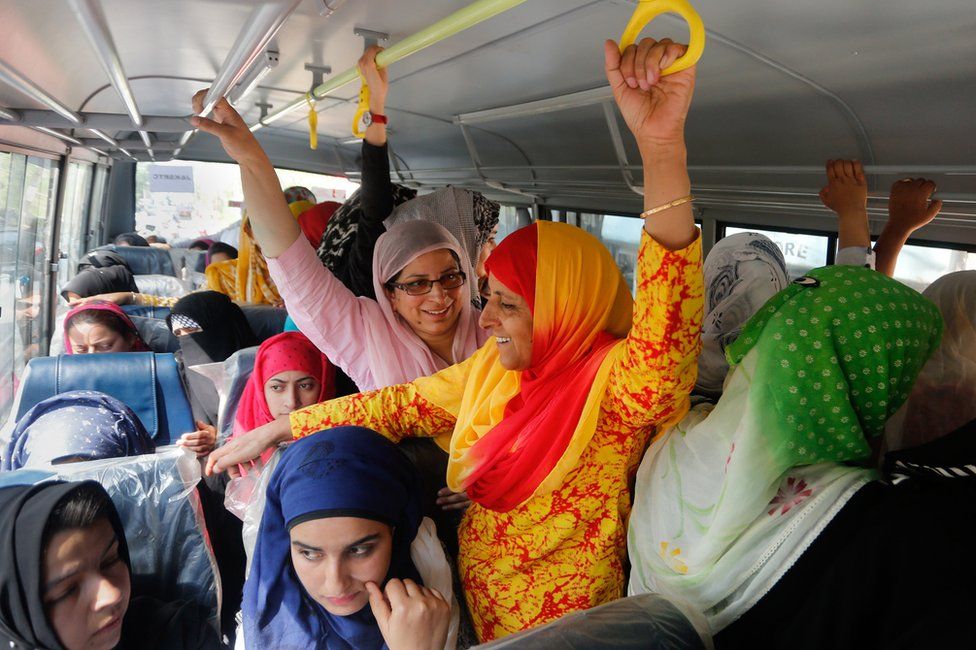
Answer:
POLYGON ((313 519, 291 529, 291 563, 309 596, 336 616, 369 603, 366 583, 383 585, 393 555, 390 526, 359 517, 313 519))

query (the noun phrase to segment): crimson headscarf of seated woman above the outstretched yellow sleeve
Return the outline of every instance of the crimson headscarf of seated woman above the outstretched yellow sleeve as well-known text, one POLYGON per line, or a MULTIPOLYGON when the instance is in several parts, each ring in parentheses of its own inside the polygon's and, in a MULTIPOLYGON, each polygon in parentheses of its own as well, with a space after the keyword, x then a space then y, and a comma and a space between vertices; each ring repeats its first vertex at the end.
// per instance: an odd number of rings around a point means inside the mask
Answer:
MULTIPOLYGON (((283 332, 261 344, 254 359, 254 370, 247 380, 234 418, 235 438, 274 420, 264 399, 264 385, 281 372, 300 370, 319 382, 318 401, 335 396, 335 367, 301 332, 283 332)), ((265 452, 267 461, 271 452, 265 452)))

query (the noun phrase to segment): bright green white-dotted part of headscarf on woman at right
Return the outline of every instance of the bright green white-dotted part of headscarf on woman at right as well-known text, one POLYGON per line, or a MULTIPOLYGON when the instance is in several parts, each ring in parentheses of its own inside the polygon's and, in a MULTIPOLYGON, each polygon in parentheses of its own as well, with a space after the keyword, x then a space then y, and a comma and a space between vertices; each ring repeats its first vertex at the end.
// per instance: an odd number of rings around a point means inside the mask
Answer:
POLYGON ((857 266, 811 271, 773 296, 727 349, 758 354, 750 407, 791 465, 857 461, 905 402, 942 337, 920 293, 857 266))

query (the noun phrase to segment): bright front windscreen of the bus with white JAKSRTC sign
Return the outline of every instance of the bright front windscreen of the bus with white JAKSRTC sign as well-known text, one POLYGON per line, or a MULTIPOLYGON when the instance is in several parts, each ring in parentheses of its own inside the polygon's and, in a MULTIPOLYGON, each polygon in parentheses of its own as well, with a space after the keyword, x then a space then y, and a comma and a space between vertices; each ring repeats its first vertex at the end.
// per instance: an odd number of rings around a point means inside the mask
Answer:
MULTIPOLYGON (((318 201, 344 201, 358 183, 339 176, 277 170, 282 187, 302 185, 318 201)), ((176 160, 136 165, 136 230, 170 243, 213 235, 241 220, 237 165, 176 160)))

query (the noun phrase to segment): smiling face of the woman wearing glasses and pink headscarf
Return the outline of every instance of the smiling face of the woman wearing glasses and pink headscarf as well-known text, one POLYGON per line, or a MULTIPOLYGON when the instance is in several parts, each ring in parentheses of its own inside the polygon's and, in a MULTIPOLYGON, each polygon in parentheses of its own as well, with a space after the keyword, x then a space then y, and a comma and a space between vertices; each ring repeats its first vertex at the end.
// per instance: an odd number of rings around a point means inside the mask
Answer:
MULTIPOLYGON (((451 251, 446 248, 415 258, 393 279, 399 284, 410 284, 418 280, 438 280, 460 269, 451 251)), ((452 334, 461 315, 462 301, 466 287, 445 290, 435 282, 430 293, 411 296, 402 289, 387 289, 386 295, 393 310, 410 325, 410 329, 421 338, 452 334)))

